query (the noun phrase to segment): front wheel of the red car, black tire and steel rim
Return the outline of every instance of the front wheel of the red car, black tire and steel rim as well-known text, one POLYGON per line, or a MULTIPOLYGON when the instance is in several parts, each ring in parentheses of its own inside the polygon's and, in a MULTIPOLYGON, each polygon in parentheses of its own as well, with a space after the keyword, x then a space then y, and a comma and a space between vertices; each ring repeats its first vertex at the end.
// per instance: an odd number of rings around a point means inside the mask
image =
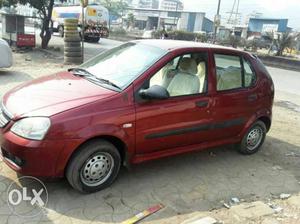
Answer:
POLYGON ((102 190, 113 183, 121 165, 117 148, 105 140, 84 144, 72 156, 66 171, 70 185, 83 193, 102 190))

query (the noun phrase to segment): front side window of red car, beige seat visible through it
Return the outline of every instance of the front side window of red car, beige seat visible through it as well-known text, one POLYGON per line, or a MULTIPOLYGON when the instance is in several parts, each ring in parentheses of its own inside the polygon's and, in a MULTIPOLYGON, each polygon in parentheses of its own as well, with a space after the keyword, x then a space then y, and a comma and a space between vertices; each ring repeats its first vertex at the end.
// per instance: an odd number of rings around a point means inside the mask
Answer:
POLYGON ((170 96, 204 93, 207 90, 207 54, 192 53, 174 58, 150 79, 149 87, 166 88, 170 96))

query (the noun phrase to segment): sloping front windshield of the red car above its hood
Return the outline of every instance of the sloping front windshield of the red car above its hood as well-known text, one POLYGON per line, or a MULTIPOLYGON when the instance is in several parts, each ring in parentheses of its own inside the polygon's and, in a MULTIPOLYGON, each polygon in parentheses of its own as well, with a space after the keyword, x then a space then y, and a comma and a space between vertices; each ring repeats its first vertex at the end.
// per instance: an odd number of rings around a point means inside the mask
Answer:
POLYGON ((166 53, 158 47, 126 43, 92 58, 80 68, 123 90, 166 53))

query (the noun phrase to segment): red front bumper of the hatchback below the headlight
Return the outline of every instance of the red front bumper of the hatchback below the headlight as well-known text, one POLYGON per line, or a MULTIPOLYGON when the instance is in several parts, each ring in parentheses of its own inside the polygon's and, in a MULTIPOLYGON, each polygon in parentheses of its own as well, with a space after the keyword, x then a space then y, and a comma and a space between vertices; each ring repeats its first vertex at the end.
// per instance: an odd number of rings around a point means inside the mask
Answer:
POLYGON ((14 171, 35 177, 62 177, 77 141, 24 139, 0 129, 0 157, 14 171))

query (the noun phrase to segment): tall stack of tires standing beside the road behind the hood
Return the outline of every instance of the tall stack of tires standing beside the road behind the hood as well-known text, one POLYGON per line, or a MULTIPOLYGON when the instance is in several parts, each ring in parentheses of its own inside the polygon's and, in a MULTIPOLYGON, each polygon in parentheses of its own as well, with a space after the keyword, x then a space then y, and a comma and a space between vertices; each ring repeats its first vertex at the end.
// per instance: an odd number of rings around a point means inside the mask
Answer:
POLYGON ((78 19, 65 19, 64 41, 65 64, 81 64, 83 62, 83 57, 81 38, 78 32, 78 19))

